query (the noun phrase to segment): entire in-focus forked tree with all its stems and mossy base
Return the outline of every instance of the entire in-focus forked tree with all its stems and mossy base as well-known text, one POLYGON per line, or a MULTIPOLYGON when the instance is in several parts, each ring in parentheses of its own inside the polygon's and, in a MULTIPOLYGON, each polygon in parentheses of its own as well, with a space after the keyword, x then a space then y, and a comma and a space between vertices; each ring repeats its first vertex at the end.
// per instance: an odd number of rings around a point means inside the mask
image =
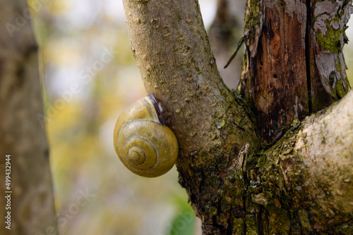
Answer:
POLYGON ((220 78, 198 1, 124 0, 133 53, 169 114, 179 182, 203 234, 353 234, 353 93, 345 96, 341 53, 352 1, 330 3, 248 1, 246 101, 220 78), (332 12, 340 30, 322 41, 337 25, 319 16, 332 12))

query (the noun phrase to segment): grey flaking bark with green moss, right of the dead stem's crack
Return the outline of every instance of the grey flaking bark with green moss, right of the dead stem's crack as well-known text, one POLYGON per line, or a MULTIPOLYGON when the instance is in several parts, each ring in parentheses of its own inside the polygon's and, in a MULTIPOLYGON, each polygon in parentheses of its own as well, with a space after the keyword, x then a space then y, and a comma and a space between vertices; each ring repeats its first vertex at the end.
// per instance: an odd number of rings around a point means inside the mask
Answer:
MULTIPOLYGON (((323 108, 320 104, 323 94, 330 97, 330 103, 341 99, 349 91, 349 82, 345 73, 346 65, 342 49, 348 39, 345 35, 347 23, 353 12, 352 1, 319 1, 312 6, 313 50, 311 61, 312 86, 321 84, 321 88, 313 94, 313 109, 323 108), (325 92, 323 92, 325 91, 325 92), (318 106, 318 107, 316 107, 318 106)), ((327 98, 326 98, 327 99, 327 98)))

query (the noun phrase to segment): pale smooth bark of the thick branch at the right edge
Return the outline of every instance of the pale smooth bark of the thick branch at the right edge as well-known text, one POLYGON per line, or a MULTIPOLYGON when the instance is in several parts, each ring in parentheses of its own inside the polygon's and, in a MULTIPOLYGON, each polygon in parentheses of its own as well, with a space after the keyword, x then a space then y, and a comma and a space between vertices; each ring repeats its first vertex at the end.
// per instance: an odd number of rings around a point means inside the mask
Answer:
POLYGON ((324 196, 321 200, 323 211, 331 207, 353 212, 352 104, 353 91, 349 91, 323 113, 306 118, 294 146, 308 169, 303 186, 308 187, 313 197, 324 196))

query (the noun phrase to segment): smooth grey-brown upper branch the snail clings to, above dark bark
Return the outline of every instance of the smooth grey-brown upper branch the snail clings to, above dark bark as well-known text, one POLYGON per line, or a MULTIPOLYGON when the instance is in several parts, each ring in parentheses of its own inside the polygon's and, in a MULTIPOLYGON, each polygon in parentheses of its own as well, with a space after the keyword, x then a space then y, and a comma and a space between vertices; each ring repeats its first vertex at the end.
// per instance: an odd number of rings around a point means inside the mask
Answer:
POLYGON ((215 146, 244 146, 253 127, 217 71, 198 2, 124 0, 124 9, 145 88, 167 110, 181 160, 215 146), (227 140, 224 129, 247 137, 227 140))

